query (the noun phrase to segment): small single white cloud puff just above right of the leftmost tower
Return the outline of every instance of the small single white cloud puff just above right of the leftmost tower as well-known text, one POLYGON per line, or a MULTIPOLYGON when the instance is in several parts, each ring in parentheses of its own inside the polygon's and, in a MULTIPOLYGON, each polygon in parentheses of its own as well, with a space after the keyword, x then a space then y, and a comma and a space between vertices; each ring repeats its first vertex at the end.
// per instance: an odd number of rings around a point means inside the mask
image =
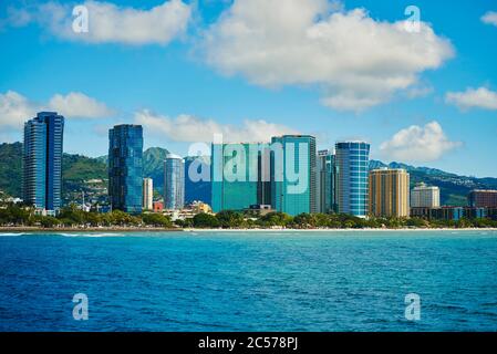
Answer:
POLYGON ((104 103, 89 97, 81 92, 71 92, 65 96, 55 94, 50 100, 49 107, 68 117, 102 118, 115 114, 104 103))

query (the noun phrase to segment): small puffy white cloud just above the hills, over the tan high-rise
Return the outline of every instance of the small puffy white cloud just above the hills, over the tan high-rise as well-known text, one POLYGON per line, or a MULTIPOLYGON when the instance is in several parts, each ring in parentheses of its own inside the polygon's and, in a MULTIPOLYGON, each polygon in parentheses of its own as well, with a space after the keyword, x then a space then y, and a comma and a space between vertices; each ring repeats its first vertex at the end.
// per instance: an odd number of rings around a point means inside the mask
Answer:
POLYGON ((459 142, 451 142, 434 121, 424 127, 412 125, 397 132, 392 139, 380 145, 380 152, 383 157, 394 160, 433 162, 460 145, 459 142))

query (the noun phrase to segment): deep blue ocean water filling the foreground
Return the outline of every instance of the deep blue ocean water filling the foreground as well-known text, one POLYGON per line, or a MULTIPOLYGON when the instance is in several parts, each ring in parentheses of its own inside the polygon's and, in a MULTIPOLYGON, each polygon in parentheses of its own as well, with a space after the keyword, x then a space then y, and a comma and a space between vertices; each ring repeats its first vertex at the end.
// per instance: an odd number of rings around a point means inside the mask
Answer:
POLYGON ((497 232, 0 233, 0 331, 497 331, 497 232))

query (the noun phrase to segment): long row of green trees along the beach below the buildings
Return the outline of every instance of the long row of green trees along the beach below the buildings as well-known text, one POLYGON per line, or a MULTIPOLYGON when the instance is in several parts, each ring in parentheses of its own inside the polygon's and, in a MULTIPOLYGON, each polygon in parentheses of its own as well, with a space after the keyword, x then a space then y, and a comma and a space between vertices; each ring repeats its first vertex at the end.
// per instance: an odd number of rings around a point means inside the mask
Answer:
POLYGON ((283 212, 269 212, 263 216, 224 210, 217 215, 198 214, 193 218, 176 220, 162 214, 130 214, 114 210, 99 214, 79 210, 74 206, 64 208, 56 217, 37 216, 34 210, 19 206, 0 209, 0 226, 39 226, 55 227, 159 227, 172 228, 289 228, 289 229, 401 229, 401 228, 497 228, 497 220, 467 219, 460 220, 424 220, 420 218, 370 218, 362 219, 350 215, 301 214, 291 217, 283 212))

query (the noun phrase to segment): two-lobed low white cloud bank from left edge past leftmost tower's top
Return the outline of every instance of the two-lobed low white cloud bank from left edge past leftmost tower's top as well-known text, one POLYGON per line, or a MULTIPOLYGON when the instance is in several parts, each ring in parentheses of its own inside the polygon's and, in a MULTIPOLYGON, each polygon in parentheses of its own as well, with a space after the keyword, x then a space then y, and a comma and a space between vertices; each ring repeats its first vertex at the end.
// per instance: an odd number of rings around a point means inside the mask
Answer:
POLYGON ((45 104, 30 101, 14 91, 0 93, 0 128, 20 128, 40 111, 56 111, 66 118, 97 118, 114 114, 105 104, 80 92, 65 96, 55 94, 45 104))

